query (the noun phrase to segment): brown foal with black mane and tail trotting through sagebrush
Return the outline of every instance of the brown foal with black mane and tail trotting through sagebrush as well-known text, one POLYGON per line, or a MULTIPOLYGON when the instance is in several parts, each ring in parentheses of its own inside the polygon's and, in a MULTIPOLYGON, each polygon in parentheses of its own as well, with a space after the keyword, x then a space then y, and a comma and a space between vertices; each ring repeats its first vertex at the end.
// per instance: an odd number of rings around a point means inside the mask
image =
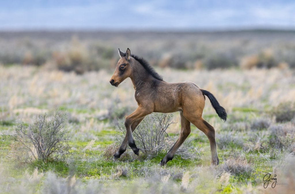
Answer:
POLYGON ((178 140, 161 160, 160 165, 165 165, 173 156, 181 144, 191 132, 191 123, 207 135, 212 155, 212 164, 218 165, 215 130, 202 118, 206 95, 218 116, 226 121, 227 113, 219 105, 212 93, 202 90, 192 82, 168 83, 155 72, 144 59, 131 55, 130 49, 126 53, 119 50, 121 59, 117 63, 115 72, 110 80, 113 86, 118 86, 127 77, 131 78, 135 89, 135 100, 138 108, 125 119, 126 136, 114 154, 114 160, 120 158, 127 148, 127 143, 133 152, 139 155, 139 149, 135 145, 132 132, 137 125, 152 112, 180 112, 181 131, 178 140))

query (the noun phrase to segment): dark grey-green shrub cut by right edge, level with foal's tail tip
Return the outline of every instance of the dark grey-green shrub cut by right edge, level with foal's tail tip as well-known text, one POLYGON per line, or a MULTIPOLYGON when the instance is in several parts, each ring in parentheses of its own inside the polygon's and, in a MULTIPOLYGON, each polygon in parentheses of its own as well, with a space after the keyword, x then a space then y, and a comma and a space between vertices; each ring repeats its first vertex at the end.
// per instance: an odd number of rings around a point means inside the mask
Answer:
POLYGON ((284 102, 273 108, 270 112, 276 116, 276 122, 291 121, 295 117, 295 104, 284 102))

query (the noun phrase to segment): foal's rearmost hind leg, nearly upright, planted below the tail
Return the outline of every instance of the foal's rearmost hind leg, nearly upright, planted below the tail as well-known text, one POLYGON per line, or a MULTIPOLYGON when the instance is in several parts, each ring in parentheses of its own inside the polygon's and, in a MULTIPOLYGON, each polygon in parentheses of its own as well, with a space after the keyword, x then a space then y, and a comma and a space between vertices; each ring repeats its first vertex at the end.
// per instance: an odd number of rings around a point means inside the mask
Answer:
POLYGON ((195 117, 192 114, 185 114, 186 118, 194 124, 199 130, 203 131, 207 138, 209 139, 211 156, 212 156, 212 165, 218 165, 219 159, 217 155, 217 146, 215 139, 215 129, 202 117, 195 117))

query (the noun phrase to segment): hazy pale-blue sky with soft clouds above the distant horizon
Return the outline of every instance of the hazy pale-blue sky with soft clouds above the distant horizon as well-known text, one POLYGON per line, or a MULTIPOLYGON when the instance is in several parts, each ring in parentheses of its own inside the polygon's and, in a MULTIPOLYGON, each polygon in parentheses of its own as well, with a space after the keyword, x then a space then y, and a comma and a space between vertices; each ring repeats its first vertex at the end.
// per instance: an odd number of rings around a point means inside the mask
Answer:
POLYGON ((295 29, 295 1, 0 1, 0 30, 228 28, 295 29))

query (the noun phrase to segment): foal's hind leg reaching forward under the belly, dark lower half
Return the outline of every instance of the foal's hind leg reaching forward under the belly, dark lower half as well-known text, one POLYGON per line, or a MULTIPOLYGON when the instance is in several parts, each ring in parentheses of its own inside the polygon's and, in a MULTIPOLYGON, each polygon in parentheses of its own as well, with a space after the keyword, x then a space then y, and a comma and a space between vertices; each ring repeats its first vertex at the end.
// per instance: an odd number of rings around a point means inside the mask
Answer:
POLYGON ((180 112, 181 117, 181 130, 180 135, 176 143, 172 146, 172 148, 168 151, 166 156, 161 160, 160 164, 161 166, 165 165, 168 161, 172 160, 174 157, 174 154, 178 150, 178 148, 181 146, 181 144, 186 140, 186 138, 191 133, 191 123, 183 116, 183 113, 180 112))

